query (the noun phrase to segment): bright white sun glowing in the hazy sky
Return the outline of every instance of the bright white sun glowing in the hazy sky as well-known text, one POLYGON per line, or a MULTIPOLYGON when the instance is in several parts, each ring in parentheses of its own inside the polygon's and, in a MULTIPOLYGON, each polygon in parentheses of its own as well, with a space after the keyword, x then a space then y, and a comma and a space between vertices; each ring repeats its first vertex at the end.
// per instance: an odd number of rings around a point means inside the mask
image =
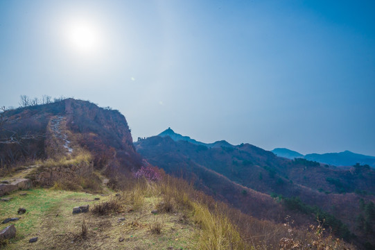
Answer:
POLYGON ((70 47, 78 53, 95 53, 101 46, 101 34, 94 22, 75 20, 66 29, 70 47))

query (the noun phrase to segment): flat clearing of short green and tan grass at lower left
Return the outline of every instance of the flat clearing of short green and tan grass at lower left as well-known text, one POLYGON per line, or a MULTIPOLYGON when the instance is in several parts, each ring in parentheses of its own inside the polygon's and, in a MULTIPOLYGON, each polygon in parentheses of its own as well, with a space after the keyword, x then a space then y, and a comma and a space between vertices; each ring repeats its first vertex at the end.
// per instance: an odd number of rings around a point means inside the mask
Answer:
MULTIPOLYGON (((5 249, 198 249, 198 227, 184 219, 181 213, 152 214, 159 202, 157 196, 144 197, 141 204, 134 200, 119 199, 114 194, 101 197, 84 192, 34 189, 14 192, 11 201, 0 203, 0 217, 20 217, 12 222, 17 228, 16 238, 5 249), (95 197, 101 200, 94 201, 95 197), (72 208, 106 201, 119 203, 119 210, 105 215, 91 212, 72 214, 72 208), (24 215, 17 215, 18 208, 26 208, 24 215), (123 222, 119 218, 125 217, 123 222), (160 223, 160 233, 152 233, 154 224, 160 223), (87 233, 82 235, 82 225, 87 233), (37 242, 28 240, 38 237, 37 242), (120 242, 122 240, 122 242, 120 242)), ((126 193, 123 193, 126 195, 126 193)), ((8 226, 1 225, 1 229, 8 226)))

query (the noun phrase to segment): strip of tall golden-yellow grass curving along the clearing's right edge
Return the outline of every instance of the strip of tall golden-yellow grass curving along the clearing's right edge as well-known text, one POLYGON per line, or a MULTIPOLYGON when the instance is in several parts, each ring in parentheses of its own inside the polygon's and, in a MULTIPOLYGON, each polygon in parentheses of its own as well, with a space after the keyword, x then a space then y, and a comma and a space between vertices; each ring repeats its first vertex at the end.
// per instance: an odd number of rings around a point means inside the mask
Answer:
MULTIPOLYGON (((237 228, 215 209, 216 202, 194 190, 186 181, 165 175, 164 180, 157 183, 140 181, 134 190, 140 195, 161 197, 156 205, 159 213, 173 213, 177 210, 185 215, 184 221, 191 217, 201 228, 200 249, 246 249, 237 228), (214 209, 210 210, 210 206, 214 209)), ((157 233, 161 227, 162 222, 157 220, 150 224, 153 233, 157 233)))

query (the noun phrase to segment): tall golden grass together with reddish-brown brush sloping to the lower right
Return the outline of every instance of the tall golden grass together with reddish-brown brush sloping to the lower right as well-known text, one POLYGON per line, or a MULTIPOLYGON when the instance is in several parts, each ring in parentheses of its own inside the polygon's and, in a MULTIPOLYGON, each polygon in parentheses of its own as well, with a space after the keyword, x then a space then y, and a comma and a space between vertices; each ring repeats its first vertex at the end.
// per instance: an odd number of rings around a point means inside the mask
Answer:
POLYGON ((186 215, 191 216, 189 211, 193 211, 195 222, 202 226, 201 249, 280 249, 281 239, 290 238, 290 230, 294 232, 294 242, 302 242, 302 249, 322 249, 317 242, 323 242, 325 247, 333 246, 327 249, 354 249, 331 235, 317 235, 293 224, 285 226, 245 215, 198 192, 182 179, 166 175, 151 190, 162 196, 156 206, 158 210, 163 211, 164 206, 173 203, 176 210, 185 211, 186 215))

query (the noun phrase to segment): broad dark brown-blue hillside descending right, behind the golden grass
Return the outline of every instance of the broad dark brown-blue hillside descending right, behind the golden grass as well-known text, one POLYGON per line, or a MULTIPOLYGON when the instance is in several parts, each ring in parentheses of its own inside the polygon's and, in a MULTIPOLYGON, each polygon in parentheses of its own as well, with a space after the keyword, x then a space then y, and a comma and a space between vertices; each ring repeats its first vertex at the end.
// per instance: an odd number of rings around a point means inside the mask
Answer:
MULTIPOLYGON (((175 176, 193 179, 207 194, 245 213, 277 220, 277 215, 286 214, 286 206, 280 206, 270 194, 279 195, 285 201, 299 197, 306 206, 318 206, 324 213, 335 215, 350 231, 369 240, 365 233, 358 231, 356 217, 361 213, 360 199, 375 201, 374 195, 362 195, 375 193, 372 169, 362 166, 338 169, 304 159, 288 160, 250 144, 209 148, 185 140, 152 137, 139 140, 135 146, 153 165, 175 176), (254 203, 262 205, 256 207, 254 203)), ((299 223, 306 223, 306 217, 297 217, 299 223)), ((341 233, 345 230, 340 229, 341 233)))

